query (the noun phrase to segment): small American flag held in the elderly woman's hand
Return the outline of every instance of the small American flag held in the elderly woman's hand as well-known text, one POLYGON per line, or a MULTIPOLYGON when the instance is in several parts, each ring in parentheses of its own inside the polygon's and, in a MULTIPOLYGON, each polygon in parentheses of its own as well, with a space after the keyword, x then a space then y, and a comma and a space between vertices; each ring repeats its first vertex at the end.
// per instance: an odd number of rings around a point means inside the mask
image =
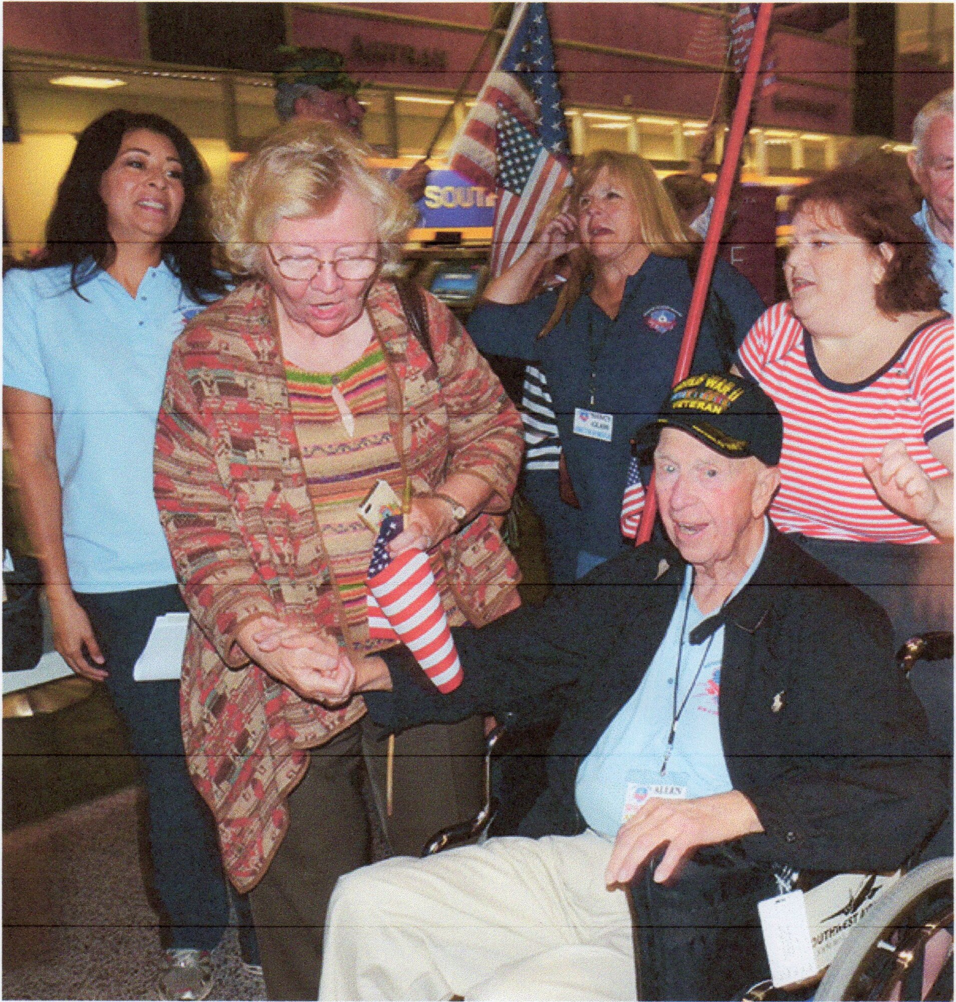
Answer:
POLYGON ((388 552, 403 522, 401 515, 386 515, 372 547, 365 579, 368 636, 399 640, 439 692, 452 692, 464 675, 427 554, 414 547, 396 557, 388 552))

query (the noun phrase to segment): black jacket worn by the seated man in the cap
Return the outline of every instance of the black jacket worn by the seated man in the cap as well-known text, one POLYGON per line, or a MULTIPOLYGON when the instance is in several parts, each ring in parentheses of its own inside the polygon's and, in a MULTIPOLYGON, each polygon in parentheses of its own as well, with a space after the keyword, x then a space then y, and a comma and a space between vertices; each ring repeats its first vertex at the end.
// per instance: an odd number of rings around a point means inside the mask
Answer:
MULTIPOLYGON (((797 869, 896 869, 946 810, 948 759, 929 742, 923 708, 893 660, 886 614, 771 528, 750 582, 691 633, 726 622, 720 727, 735 790, 764 834, 754 859, 797 869)), ((648 544, 477 631, 453 630, 464 681, 441 695, 403 647, 383 656, 391 693, 369 693, 390 729, 521 710, 567 685, 549 784, 522 834, 575 835, 585 823, 575 777, 634 694, 677 605, 686 564, 648 544), (574 682, 574 685, 569 683, 574 682)))

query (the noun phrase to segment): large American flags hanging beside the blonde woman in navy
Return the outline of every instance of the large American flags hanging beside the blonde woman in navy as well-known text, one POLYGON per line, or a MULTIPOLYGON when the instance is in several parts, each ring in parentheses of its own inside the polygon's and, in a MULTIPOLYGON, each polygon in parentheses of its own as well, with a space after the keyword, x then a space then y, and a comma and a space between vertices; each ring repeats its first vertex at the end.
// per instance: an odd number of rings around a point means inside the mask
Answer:
POLYGON ((448 155, 452 170, 498 189, 493 277, 525 253, 548 199, 571 183, 545 8, 544 3, 516 5, 495 66, 448 155))

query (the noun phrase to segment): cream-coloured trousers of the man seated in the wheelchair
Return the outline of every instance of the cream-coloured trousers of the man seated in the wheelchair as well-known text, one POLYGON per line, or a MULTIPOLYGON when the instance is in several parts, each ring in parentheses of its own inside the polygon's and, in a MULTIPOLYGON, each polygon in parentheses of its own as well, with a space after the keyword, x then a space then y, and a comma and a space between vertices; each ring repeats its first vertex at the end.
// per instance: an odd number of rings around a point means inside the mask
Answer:
POLYGON ((491 839, 342 877, 320 999, 634 999, 631 914, 608 891, 611 844, 491 839))

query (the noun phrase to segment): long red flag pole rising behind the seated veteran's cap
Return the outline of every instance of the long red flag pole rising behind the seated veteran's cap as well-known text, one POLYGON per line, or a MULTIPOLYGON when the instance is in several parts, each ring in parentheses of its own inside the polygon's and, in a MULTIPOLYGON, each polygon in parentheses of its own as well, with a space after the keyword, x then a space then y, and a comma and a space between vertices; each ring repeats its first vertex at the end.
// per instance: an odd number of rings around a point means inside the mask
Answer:
MULTIPOLYGON (((694 284, 694 294, 691 306, 687 312, 687 324, 684 328, 684 340, 681 342, 681 352, 678 355, 677 366, 674 369, 674 382, 677 386, 686 379, 691 371, 694 360, 694 349, 701 331, 701 320, 704 317, 704 307, 707 303, 707 293, 711 285, 714 265, 717 263, 717 252, 720 245, 724 220, 727 218, 727 206, 730 203, 731 189, 737 175, 737 165, 740 162, 741 151, 744 148, 744 130, 750 117, 750 107, 757 89, 757 77, 760 74, 760 64, 764 57, 764 47, 767 44, 767 33, 770 30, 770 15, 773 13, 772 3, 762 3, 757 11, 757 21, 754 27, 754 38, 747 57, 747 69, 741 82, 740 96, 734 117, 731 121, 730 135, 724 147, 724 159, 717 177, 717 188, 714 191, 714 208, 711 211, 711 221, 704 238, 704 249, 701 254, 701 266, 694 284)), ((654 529, 654 517, 657 514, 657 498, 654 494, 654 476, 648 485, 644 500, 644 511, 641 513, 641 525, 634 540, 635 546, 646 543, 651 538, 654 529)))

